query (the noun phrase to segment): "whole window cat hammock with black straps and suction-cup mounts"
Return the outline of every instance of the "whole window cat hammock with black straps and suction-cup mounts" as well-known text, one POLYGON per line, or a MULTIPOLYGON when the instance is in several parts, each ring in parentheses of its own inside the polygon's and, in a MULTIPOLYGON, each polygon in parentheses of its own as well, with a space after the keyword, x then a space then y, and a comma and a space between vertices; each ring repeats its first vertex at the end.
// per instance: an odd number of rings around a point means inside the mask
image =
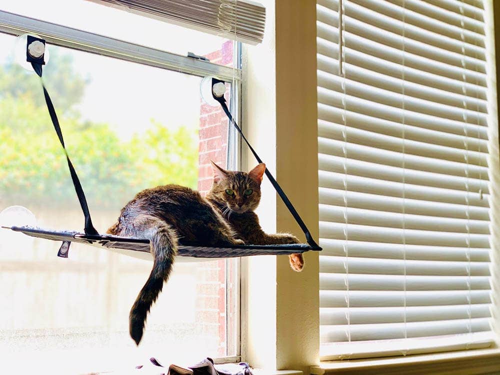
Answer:
MULTIPOLYGON (((13 231, 22 232, 26 235, 51 239, 54 241, 62 241, 62 245, 59 248, 58 256, 67 257, 67 252, 70 242, 80 242, 97 247, 103 247, 115 252, 130 255, 133 257, 150 259, 151 255, 149 253, 149 240, 144 238, 135 237, 122 237, 111 234, 99 234, 97 230, 93 227, 92 220, 90 218, 90 212, 88 210, 87 201, 83 188, 81 187, 80 181, 76 174, 76 171, 69 159, 68 153, 64 145, 64 139, 62 137, 62 131, 59 126, 59 121, 55 113, 52 100, 41 80, 42 76, 42 66, 44 62, 44 52, 45 52, 45 40, 27 35, 27 45, 26 45, 26 61, 31 63, 32 68, 36 74, 40 77, 40 82, 43 88, 43 95, 45 97, 45 103, 47 105, 48 112, 50 114, 50 119, 54 126, 55 132, 59 138, 62 145, 63 151, 66 155, 67 165, 71 175, 71 179, 78 196, 78 200, 85 217, 84 232, 78 231, 58 231, 51 229, 44 229, 32 226, 2 226, 3 228, 11 229, 13 231)), ((225 103, 224 92, 225 87, 224 82, 212 78, 211 79, 211 94, 212 97, 221 105, 225 114, 229 118, 229 122, 236 128, 236 130, 241 135, 241 138, 248 145, 248 148, 252 152, 253 156, 257 159, 259 163, 262 162, 260 157, 257 155, 253 147, 250 145, 243 132, 239 126, 234 121, 227 105, 225 103)), ((269 170, 265 169, 265 174, 272 186, 276 189, 276 192, 283 200, 284 204, 292 214, 293 218, 300 226, 305 234, 307 243, 290 243, 290 244, 279 244, 279 245, 225 245, 224 247, 212 247, 204 246, 203 244, 182 244, 180 241, 177 255, 189 256, 195 258, 227 258, 227 257, 238 257, 238 256, 249 256, 249 255, 282 255, 282 254, 292 254, 292 253, 302 253, 308 250, 321 250, 321 247, 312 238, 309 229, 300 218, 298 212, 295 210, 290 200, 281 189, 277 181, 274 179, 269 170)))

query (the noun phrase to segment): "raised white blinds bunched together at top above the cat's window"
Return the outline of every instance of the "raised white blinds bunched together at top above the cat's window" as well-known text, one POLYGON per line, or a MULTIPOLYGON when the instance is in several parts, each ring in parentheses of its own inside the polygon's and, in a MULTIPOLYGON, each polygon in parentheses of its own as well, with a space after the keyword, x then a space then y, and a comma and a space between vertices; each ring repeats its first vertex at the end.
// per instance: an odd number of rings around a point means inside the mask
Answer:
POLYGON ((250 44, 260 43, 264 35, 265 7, 251 0, 89 1, 250 44))

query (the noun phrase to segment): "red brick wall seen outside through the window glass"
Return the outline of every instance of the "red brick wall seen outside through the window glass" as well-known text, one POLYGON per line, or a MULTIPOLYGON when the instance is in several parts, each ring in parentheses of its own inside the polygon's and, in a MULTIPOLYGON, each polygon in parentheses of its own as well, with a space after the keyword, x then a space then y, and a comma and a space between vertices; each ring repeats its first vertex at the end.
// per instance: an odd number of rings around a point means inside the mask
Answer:
MULTIPOLYGON (((232 66, 233 42, 226 41, 220 50, 205 55, 211 62, 232 66)), ((229 98, 229 92, 225 94, 229 98)), ((210 160, 226 167, 228 120, 220 106, 201 102, 199 120, 198 191, 204 195, 212 183, 210 160)), ((232 272, 232 267, 229 267, 232 272)), ((232 274, 232 273, 231 273, 232 274)), ((204 263, 198 278, 196 319, 202 333, 217 338, 219 356, 226 355, 226 261, 204 263)))

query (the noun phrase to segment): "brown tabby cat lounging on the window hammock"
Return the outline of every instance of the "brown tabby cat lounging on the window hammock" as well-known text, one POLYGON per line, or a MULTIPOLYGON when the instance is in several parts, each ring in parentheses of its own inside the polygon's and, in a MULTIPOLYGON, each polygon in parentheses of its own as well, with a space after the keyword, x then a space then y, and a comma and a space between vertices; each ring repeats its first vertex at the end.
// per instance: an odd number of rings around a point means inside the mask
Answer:
MULTIPOLYGON (((225 170, 213 161, 211 165, 213 180, 206 197, 173 184, 145 189, 125 204, 118 221, 107 230, 151 242, 152 270, 129 315, 130 336, 137 345, 147 313, 172 270, 179 238, 184 244, 208 246, 299 242, 291 234, 265 233, 253 212, 260 201, 265 164, 249 172, 225 170)), ((293 270, 302 270, 302 254, 289 255, 289 261, 293 270)))

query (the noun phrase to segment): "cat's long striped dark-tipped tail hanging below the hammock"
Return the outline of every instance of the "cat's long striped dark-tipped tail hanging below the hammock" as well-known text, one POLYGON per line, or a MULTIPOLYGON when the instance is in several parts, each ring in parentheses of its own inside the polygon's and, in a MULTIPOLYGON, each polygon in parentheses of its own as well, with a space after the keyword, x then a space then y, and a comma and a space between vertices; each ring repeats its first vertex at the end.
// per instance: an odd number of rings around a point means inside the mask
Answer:
POLYGON ((140 235, 148 238, 151 242, 151 254, 154 259, 151 273, 130 309, 130 336, 138 345, 142 338, 147 313, 163 288, 163 282, 168 280, 172 270, 177 249, 177 236, 166 222, 149 215, 137 216, 133 227, 134 233, 129 235, 140 235))

